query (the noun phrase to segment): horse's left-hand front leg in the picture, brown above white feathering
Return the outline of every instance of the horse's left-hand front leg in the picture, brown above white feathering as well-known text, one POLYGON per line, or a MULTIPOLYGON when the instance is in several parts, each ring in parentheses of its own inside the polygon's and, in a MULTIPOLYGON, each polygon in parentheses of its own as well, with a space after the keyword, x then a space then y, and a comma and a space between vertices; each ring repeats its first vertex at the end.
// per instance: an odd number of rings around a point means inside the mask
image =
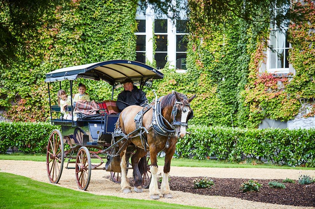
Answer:
POLYGON ((160 192, 157 185, 157 151, 154 146, 150 146, 150 160, 151 160, 151 183, 149 186, 149 195, 151 199, 160 199, 160 192))

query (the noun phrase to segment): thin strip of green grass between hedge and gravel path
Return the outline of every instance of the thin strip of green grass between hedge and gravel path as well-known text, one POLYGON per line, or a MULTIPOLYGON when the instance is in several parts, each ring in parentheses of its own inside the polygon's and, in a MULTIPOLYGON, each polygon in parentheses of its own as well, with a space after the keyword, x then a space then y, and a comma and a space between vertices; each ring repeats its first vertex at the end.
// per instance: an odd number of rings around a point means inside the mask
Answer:
MULTIPOLYGON (((104 155, 103 155, 104 156, 104 155)), ((26 160, 26 161, 46 161, 46 154, 0 154, 0 160, 26 160)), ((66 163, 67 161, 65 161, 66 163)), ((92 159, 92 163, 98 163, 98 159, 92 159)), ((157 158, 157 165, 164 165, 164 158, 157 158)), ((301 170, 315 170, 315 167, 289 167, 289 166, 275 166, 271 164, 251 165, 239 164, 217 160, 192 160, 187 158, 173 158, 172 166, 177 167, 218 167, 218 168, 280 168, 280 169, 301 169, 301 170)))

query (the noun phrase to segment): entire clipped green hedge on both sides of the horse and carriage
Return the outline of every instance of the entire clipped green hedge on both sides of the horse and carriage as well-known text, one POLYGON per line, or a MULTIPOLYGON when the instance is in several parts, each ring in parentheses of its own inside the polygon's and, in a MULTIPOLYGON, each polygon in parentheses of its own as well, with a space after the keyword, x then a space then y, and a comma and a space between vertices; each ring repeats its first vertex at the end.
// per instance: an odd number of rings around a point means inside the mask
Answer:
MULTIPOLYGON (((25 153, 45 152, 53 129, 49 123, 0 122, 0 152, 16 147, 25 153)), ((274 164, 315 166, 315 129, 240 129, 198 127, 178 139, 177 155, 195 159, 215 156, 240 161, 246 157, 265 158, 274 164)))

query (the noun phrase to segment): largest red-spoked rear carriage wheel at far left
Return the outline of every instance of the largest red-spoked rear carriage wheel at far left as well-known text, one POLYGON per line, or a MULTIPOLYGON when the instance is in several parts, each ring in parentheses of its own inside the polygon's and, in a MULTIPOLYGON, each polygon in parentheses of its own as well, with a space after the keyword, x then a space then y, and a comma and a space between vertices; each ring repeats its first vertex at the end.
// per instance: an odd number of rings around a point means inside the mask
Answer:
POLYGON ((58 129, 54 129, 50 134, 47 154, 46 166, 49 181, 57 184, 60 180, 64 161, 63 138, 58 129))

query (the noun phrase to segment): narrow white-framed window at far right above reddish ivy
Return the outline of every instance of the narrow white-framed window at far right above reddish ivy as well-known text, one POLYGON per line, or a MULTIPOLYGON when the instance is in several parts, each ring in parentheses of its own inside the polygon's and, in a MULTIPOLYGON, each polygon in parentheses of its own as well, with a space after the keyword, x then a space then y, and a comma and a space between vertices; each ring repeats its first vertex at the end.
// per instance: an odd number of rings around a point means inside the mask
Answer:
MULTIPOLYGON (((271 13, 276 17, 277 12, 285 12, 287 8, 288 6, 279 7, 275 3, 271 13)), ((289 73, 287 25, 283 23, 278 28, 276 24, 271 24, 270 49, 267 51, 267 71, 270 73, 289 73)))

